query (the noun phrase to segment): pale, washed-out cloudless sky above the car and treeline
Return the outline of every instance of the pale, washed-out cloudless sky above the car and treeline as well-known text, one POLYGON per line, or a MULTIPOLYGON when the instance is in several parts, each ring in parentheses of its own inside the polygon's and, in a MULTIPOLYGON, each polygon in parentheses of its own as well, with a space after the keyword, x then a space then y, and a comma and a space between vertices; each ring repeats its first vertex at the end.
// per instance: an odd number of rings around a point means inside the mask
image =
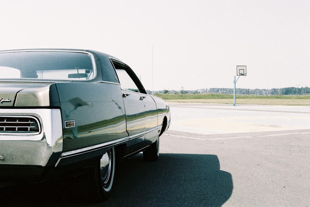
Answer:
POLYGON ((153 91, 233 88, 237 65, 237 88, 310 87, 309 11, 309 0, 0 1, 0 50, 97 50, 153 91))

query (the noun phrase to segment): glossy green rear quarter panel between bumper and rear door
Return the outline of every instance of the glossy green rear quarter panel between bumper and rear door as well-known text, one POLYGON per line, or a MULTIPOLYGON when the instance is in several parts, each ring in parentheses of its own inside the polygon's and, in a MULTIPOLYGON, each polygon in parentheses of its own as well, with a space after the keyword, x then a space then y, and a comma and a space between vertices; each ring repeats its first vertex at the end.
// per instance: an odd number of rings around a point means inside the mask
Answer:
POLYGON ((56 87, 62 112, 64 152, 128 136, 119 85, 56 83, 56 87), (74 120, 75 126, 65 128, 65 120, 74 120))

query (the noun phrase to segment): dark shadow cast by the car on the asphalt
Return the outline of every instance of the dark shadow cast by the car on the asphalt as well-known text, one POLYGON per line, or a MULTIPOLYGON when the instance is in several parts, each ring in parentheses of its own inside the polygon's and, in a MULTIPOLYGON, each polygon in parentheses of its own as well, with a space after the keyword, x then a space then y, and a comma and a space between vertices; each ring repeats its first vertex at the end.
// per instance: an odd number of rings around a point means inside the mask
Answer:
MULTIPOLYGON (((220 170, 212 154, 161 154, 157 162, 144 162, 142 153, 118 163, 114 194, 107 206, 222 206, 231 196, 229 172, 220 170)), ((74 180, 67 182, 74 182, 74 180)), ((2 188, 2 206, 96 206, 81 200, 87 189, 72 189, 64 182, 2 188), (40 190, 40 188, 45 189, 40 190), (48 192, 47 192, 48 190, 48 192), (51 195, 54 196, 51 199, 51 195), (48 202, 47 202, 48 200, 48 202)), ((102 205, 102 204, 101 204, 102 205)))

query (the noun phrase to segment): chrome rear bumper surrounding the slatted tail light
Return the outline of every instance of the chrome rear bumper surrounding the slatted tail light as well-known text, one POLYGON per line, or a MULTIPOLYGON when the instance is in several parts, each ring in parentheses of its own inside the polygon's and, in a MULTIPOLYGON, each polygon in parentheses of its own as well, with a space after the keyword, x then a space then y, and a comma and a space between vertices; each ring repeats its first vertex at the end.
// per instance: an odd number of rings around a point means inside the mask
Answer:
POLYGON ((1 116, 34 116, 41 132, 0 134, 0 165, 55 166, 63 149, 60 109, 0 109, 1 116))

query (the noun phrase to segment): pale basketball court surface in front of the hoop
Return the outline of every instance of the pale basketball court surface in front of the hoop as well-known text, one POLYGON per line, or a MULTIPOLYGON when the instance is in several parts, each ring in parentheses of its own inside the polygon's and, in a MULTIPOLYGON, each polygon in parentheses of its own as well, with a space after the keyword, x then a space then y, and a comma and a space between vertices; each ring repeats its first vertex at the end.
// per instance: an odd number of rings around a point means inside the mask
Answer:
POLYGON ((309 106, 265 106, 169 103, 171 130, 201 133, 243 133, 310 129, 309 106))

